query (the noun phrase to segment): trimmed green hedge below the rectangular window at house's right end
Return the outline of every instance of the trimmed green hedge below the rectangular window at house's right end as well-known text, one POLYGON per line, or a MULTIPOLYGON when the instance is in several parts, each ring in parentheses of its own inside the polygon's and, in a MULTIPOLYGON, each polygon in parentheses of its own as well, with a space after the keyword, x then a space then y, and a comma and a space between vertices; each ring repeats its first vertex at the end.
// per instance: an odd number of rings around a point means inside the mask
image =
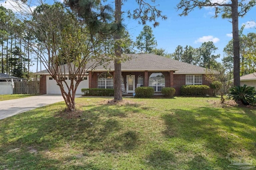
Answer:
POLYGON ((196 96, 196 95, 205 95, 210 89, 206 85, 185 85, 181 86, 181 95, 182 96, 196 96))

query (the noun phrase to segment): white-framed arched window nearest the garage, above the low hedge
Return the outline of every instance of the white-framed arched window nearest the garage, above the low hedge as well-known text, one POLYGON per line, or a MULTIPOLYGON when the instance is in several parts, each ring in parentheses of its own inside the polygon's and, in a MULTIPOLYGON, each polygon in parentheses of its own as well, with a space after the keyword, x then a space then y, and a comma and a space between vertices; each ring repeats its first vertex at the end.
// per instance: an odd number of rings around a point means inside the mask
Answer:
POLYGON ((102 72, 98 77, 98 88, 114 88, 113 76, 108 72, 102 72))

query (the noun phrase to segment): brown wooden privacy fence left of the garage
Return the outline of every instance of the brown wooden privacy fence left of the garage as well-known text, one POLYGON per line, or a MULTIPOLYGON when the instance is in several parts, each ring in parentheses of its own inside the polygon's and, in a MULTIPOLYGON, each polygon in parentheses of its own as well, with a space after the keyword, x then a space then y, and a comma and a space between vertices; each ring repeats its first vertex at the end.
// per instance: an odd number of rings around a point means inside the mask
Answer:
POLYGON ((38 94, 39 82, 14 82, 13 94, 38 94))

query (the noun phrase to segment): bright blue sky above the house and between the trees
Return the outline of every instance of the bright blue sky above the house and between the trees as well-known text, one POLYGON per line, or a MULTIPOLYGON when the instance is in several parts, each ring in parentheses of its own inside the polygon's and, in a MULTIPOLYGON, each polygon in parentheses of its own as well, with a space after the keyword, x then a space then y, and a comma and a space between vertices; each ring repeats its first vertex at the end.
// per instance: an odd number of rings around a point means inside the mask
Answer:
MULTIPOLYGON (((33 0, 34 1, 34 0, 33 0)), ((32 1, 32 2, 33 2, 32 1)), ((63 0, 58 0, 63 2, 63 0)), ((218 0, 212 0, 218 1, 218 0)), ((229 0, 226 0, 229 1, 229 0)), ((47 0, 47 2, 54 2, 47 0)), ((151 0, 147 0, 151 3, 151 0)), ((153 23, 148 22, 153 30, 153 34, 158 43, 157 48, 163 48, 168 53, 173 53, 178 45, 185 47, 190 45, 194 48, 200 47, 204 41, 213 41, 218 47, 217 54, 223 57, 223 49, 228 41, 232 39, 232 23, 231 20, 222 19, 221 17, 213 18, 213 8, 196 8, 190 12, 188 16, 179 16, 182 11, 175 9, 180 0, 156 0, 155 5, 159 4, 158 9, 162 14, 167 16, 167 20, 161 20, 160 25, 156 28, 152 26, 153 23)), ((114 1, 109 1, 114 6, 114 1)), ((10 2, 0 2, 5 7, 10 7, 10 2), (9 3, 9 4, 8 4, 9 3)), ((33 4, 33 3, 32 3, 33 4)), ((33 6, 33 5, 32 5, 33 6)), ((135 0, 124 1, 122 11, 134 10, 138 4, 135 0)), ((239 18, 239 28, 246 24, 244 34, 249 32, 256 32, 256 6, 250 10, 244 18, 239 18)), ((135 41, 144 25, 138 24, 138 21, 129 19, 123 16, 126 29, 130 32, 132 39, 135 41)), ((221 58, 218 61, 221 61, 221 58)))

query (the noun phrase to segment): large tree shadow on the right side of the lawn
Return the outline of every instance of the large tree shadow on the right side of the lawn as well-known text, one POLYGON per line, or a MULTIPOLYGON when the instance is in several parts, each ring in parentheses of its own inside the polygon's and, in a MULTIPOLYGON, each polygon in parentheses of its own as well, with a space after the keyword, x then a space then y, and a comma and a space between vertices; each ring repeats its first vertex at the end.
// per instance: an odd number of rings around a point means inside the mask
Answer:
MULTIPOLYGON (((256 125, 256 115, 250 110, 238 107, 228 108, 226 111, 211 107, 200 107, 196 110, 172 109, 172 113, 163 115, 162 119, 166 125, 163 134, 167 138, 185 141, 176 147, 182 149, 186 148, 186 145, 200 145, 204 148, 202 149, 204 153, 218 157, 216 161, 220 165, 219 168, 226 168, 230 163, 225 157, 232 150, 238 152, 244 150, 245 153, 254 155, 254 158, 256 156, 255 146, 241 142, 241 140, 256 141, 256 131, 252 128, 256 125), (238 113, 237 109, 240 109, 241 113, 238 113), (248 126, 251 128, 248 129, 248 126)), ((197 152, 193 148, 191 151, 194 154, 197 152)), ((206 156, 200 155, 193 159, 189 162, 185 161, 191 167, 194 166, 191 169, 214 169, 214 164, 207 162, 206 156), (198 161, 202 162, 201 168, 196 168, 195 162, 198 161)))

